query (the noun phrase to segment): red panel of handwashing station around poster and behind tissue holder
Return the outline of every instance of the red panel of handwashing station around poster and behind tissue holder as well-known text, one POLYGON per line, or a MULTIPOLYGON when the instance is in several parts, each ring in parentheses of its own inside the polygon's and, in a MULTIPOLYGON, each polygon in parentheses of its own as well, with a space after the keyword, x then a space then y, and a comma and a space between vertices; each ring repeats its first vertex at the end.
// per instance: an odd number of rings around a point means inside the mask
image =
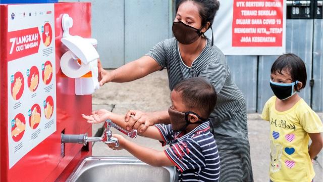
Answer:
POLYGON ((7 6, 1 5, 1 181, 54 181, 69 165, 60 180, 64 180, 79 160, 89 151, 81 151, 80 144, 66 144, 65 157, 61 157, 61 132, 68 134, 88 133, 91 125, 82 118, 82 113, 92 110, 91 96, 76 96, 75 81, 67 78, 60 69, 60 58, 67 51, 61 43, 63 35, 62 15, 67 13, 73 18, 71 35, 91 37, 91 4, 90 3, 58 3, 55 4, 55 43, 56 43, 56 96, 57 96, 57 131, 28 152, 11 169, 8 162, 8 101, 7 101, 7 6), (74 159, 73 159, 74 158, 74 159))

